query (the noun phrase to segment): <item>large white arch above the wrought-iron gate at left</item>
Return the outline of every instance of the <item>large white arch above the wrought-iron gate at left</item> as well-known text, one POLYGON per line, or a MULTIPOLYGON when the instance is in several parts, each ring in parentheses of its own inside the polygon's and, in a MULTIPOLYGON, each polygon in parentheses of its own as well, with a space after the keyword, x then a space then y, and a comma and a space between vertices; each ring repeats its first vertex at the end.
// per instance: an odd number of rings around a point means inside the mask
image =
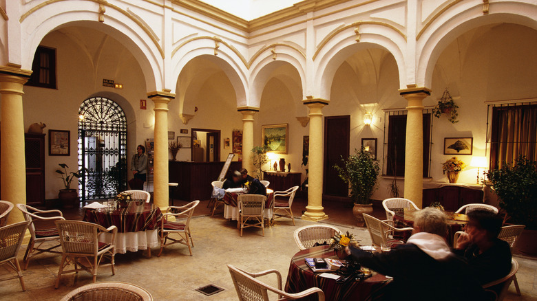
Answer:
POLYGON ((95 3, 81 1, 76 5, 51 3, 29 14, 21 23, 23 35, 21 65, 23 69, 32 69, 32 60, 37 46, 50 32, 61 27, 77 25, 90 27, 108 34, 123 44, 136 58, 143 71, 148 91, 161 90, 162 56, 154 41, 133 20, 114 10, 107 8, 105 23, 96 21, 95 3))

